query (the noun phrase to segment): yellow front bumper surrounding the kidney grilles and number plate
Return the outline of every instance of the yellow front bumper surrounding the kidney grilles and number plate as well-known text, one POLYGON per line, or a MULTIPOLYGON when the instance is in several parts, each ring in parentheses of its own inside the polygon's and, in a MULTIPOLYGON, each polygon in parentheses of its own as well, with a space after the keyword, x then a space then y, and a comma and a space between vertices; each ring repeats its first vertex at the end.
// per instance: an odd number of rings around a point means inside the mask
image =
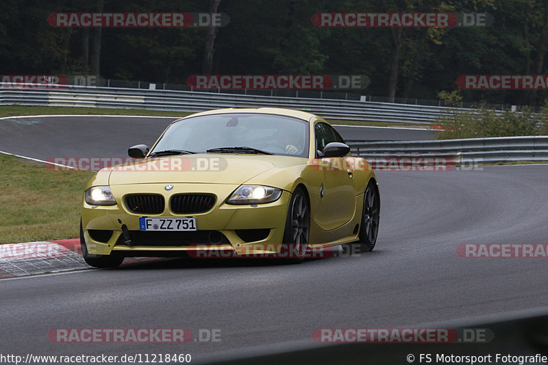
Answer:
POLYGON ((234 184, 172 184, 173 189, 164 190, 166 184, 129 184, 110 186, 116 205, 92 206, 82 201, 82 228, 88 253, 124 256, 185 255, 188 251, 204 249, 232 249, 237 254, 279 253, 282 247, 289 192, 273 203, 258 205, 229 205, 225 203, 239 185, 234 184), (216 195, 211 210, 199 214, 175 214, 169 207, 173 194, 210 193, 216 195), (161 194, 166 202, 160 214, 136 214, 125 206, 128 194, 161 194), (140 216, 151 217, 196 217, 198 231, 195 232, 142 232, 140 216), (133 240, 125 244, 123 225, 133 240), (214 234, 210 234, 214 232, 214 234), (218 232, 219 234, 217 234, 218 232), (149 234, 150 233, 150 234, 149 234), (163 234, 163 235, 162 235, 163 234), (209 238, 212 238, 210 240, 209 238), (221 237, 221 240, 219 240, 221 237), (254 238, 260 238, 253 240, 254 238), (212 242, 210 242, 212 241, 212 242))

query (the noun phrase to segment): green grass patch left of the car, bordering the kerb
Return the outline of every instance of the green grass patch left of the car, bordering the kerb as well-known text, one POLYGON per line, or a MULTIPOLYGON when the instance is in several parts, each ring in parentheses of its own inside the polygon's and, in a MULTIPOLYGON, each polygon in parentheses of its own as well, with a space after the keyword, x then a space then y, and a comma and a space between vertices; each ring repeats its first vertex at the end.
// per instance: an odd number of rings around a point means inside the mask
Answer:
POLYGON ((0 154, 0 244, 79 236, 80 205, 90 171, 51 171, 0 154))

